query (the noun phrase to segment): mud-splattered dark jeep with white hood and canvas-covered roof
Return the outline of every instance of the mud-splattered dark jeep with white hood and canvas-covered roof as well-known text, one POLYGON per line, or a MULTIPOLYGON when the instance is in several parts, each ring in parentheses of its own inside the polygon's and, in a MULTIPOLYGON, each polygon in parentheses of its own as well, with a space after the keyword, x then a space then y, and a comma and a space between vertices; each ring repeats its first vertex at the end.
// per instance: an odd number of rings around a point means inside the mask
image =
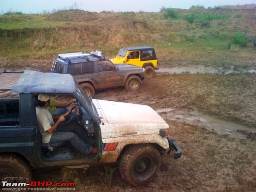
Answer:
POLYGON ((122 178, 136 186, 156 176, 164 151, 174 149, 175 159, 182 154, 168 133, 168 124, 152 108, 90 99, 70 74, 24 71, 12 93, 19 98, 0 99, 0 176, 6 178, 4 184, 29 185, 31 168, 84 168, 118 162, 122 178), (78 120, 94 137, 97 153, 82 155, 66 142, 41 143, 34 97, 41 93, 76 98, 69 121, 78 120))

